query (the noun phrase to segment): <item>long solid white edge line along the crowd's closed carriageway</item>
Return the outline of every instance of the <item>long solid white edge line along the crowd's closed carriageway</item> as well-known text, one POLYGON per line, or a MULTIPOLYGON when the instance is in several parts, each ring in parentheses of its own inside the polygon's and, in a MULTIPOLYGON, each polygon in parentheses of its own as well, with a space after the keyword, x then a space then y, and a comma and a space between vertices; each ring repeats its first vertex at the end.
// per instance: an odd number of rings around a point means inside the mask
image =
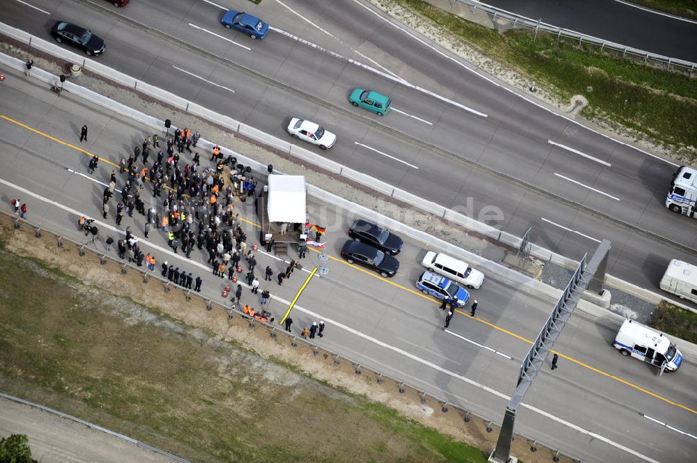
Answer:
MULTIPOLYGON (((81 212, 72 209, 71 207, 68 207, 68 206, 66 206, 66 205, 62 205, 61 203, 57 203, 56 201, 53 201, 53 200, 51 200, 51 199, 49 199, 49 198, 44 198, 43 196, 40 196, 40 195, 34 193, 33 191, 29 191, 29 190, 26 189, 26 188, 23 188, 23 187, 20 187, 19 185, 15 185, 15 184, 13 184, 13 183, 11 183, 11 182, 8 182, 7 180, 4 180, 3 178, 0 178, 0 183, 3 183, 4 185, 7 185, 8 187, 12 187, 12 188, 14 188, 14 189, 17 189, 18 191, 22 191, 22 193, 24 193, 24 194, 26 194, 26 195, 29 195, 29 196, 32 196, 33 198, 37 198, 37 199, 40 200, 40 201, 43 201, 43 202, 45 202, 45 203, 49 203, 49 204, 51 204, 51 205, 54 205, 54 206, 56 206, 56 207, 59 207, 59 208, 62 209, 62 210, 65 210, 65 211, 67 211, 67 212, 70 212, 70 213, 72 213, 72 214, 75 214, 77 217, 80 217, 80 216, 84 215, 84 214, 82 214, 81 212)), ((102 226, 102 227, 109 228, 110 230, 113 230, 113 231, 116 232, 116 233, 124 233, 123 230, 118 230, 117 228, 111 226, 109 223, 104 223, 104 222, 98 221, 98 220, 95 220, 95 223, 98 223, 98 224, 99 224, 100 226, 102 226)), ((172 251, 169 251, 169 250, 164 249, 164 248, 162 248, 162 247, 160 247, 160 246, 157 246, 156 244, 152 244, 152 243, 150 243, 150 242, 148 242, 148 241, 146 241, 146 240, 140 240, 140 239, 139 239, 139 242, 140 242, 141 244, 148 244, 148 246, 151 246, 151 247, 153 247, 154 249, 158 249, 158 251, 162 251, 162 252, 165 253, 165 254, 169 254, 169 256, 171 256, 172 258, 181 258, 181 255, 175 254, 175 253, 172 252, 172 251)), ((206 271, 210 271, 210 268, 208 268, 206 265, 203 265, 203 264, 201 264, 201 263, 199 263, 199 262, 195 262, 194 260, 187 260, 187 262, 188 262, 190 265, 194 265, 195 267, 200 267, 200 268, 202 268, 202 269, 206 269, 206 271)), ((217 279, 217 278, 216 278, 216 279, 217 279)), ((246 286, 247 288, 249 288, 249 286, 246 285, 245 283, 240 282, 240 284, 242 284, 242 285, 246 286)), ((290 301, 288 301, 288 300, 286 300, 286 299, 283 299, 282 297, 278 297, 278 296, 272 295, 272 296, 271 296, 271 299, 275 299, 275 300, 277 300, 277 301, 279 301, 279 302, 282 302, 283 304, 286 304, 286 305, 288 305, 288 306, 290 305, 290 301)), ((314 317, 315 319, 319 318, 319 320, 324 320, 325 322, 329 322, 329 323, 332 324, 332 326, 334 326, 334 327, 337 327, 337 328, 340 328, 340 329, 344 329, 345 331, 348 331, 349 333, 352 333, 352 334, 355 335, 355 336, 358 336, 358 337, 360 337, 360 338, 363 338, 363 339, 365 339, 365 340, 368 340, 368 341, 370 341, 371 343, 374 343, 374 344, 376 344, 376 345, 379 345, 379 346, 381 346, 381 347, 384 347, 385 349, 392 350, 392 352, 397 352, 398 354, 401 354, 401 355, 403 355, 403 356, 406 356, 408 359, 412 359, 413 361, 416 361, 416 362, 418 362, 418 363, 421 363, 422 365, 425 365, 425 366, 428 366, 428 367, 430 367, 430 368, 433 368, 434 370, 437 370, 437 371, 439 371, 439 372, 442 372, 442 373, 445 374, 445 375, 448 375, 448 376, 453 377, 453 378, 455 378, 455 379, 460 379, 461 381, 466 382, 467 384, 470 384, 471 386, 475 386, 475 387, 477 387, 478 389, 482 389, 483 391, 487 391, 488 393, 491 393, 491 395, 495 395, 495 396, 498 397, 498 398, 502 398, 503 400, 510 400, 510 397, 509 397, 509 396, 507 396, 507 395, 505 395, 504 393, 501 393, 501 392, 499 392, 499 391, 496 391, 496 389, 490 388, 489 386, 485 386, 484 384, 481 384, 481 383, 479 383, 479 382, 476 382, 476 381, 474 381, 473 379, 469 379, 468 377, 459 375, 459 374, 457 374, 456 372, 452 372, 452 371, 450 371, 450 370, 447 370, 447 369, 443 368, 442 366, 438 366, 438 365, 436 365, 435 363, 433 363, 433 362, 431 362, 431 361, 427 361, 427 360, 422 359, 422 358, 420 358, 420 357, 418 357, 418 356, 415 356, 414 354, 411 354, 411 353, 409 353, 409 352, 406 352, 405 350, 401 350, 401 349, 399 349, 399 347, 395 347, 395 346, 389 345, 388 343, 384 343, 383 341, 378 340, 378 339, 376 339, 376 338, 372 338, 371 336, 368 336, 368 335, 365 334, 365 333, 362 333, 362 332, 360 332, 360 331, 358 331, 358 330, 355 330, 355 329, 353 329, 353 328, 351 328, 351 327, 348 327, 348 326, 346 326, 345 324, 336 322, 335 320, 332 320, 332 319, 330 319, 330 318, 328 318, 328 317, 325 317, 325 316, 323 316, 323 315, 320 315, 319 313, 309 311, 309 310, 307 310, 307 308, 304 308, 304 307, 299 306, 299 305, 297 305, 297 304, 296 304, 296 306, 293 306, 293 308, 296 309, 296 311, 300 311, 300 312, 303 312, 303 313, 307 313, 307 315, 312 315, 312 317, 314 317)), ((590 431, 588 431, 588 430, 585 430, 585 429, 583 429, 582 427, 579 427, 579 426, 577 426, 577 425, 574 425, 573 423, 570 423, 569 421, 565 421, 565 420, 562 420, 561 418, 557 418, 556 416, 554 416, 554 415, 552 415, 552 414, 549 414, 548 412, 543 411, 542 409, 539 409, 539 408, 537 408, 537 407, 533 407, 532 405, 528 405, 528 404, 526 404, 525 402, 521 403, 521 406, 526 407, 527 409, 530 409, 530 410, 532 410, 532 411, 536 411, 538 414, 541 414, 542 416, 546 416, 547 418, 549 418, 549 419, 551 419, 551 420, 553 420, 553 421, 556 421, 557 423, 560 423, 560 424, 562 424, 562 425, 565 425, 565 426, 567 426, 567 427, 570 427, 570 428, 572 428, 573 430, 576 430, 577 432, 581 432, 581 433, 583 433, 583 434, 587 434, 587 435, 590 436, 590 437, 595 437, 596 439, 599 439, 599 440, 605 442, 606 444, 609 444, 609 445, 611 445, 611 446, 614 446, 615 448, 619 448, 620 450, 625 450, 625 452, 631 453, 631 455, 635 455, 636 457, 639 457, 639 458, 641 458, 642 460, 645 460, 645 461, 650 462, 650 463, 659 463, 659 462, 657 462, 656 460, 652 460, 651 458, 646 457, 645 455, 641 455, 641 453, 638 453, 638 452, 636 452, 635 450, 631 450, 631 448, 627 448, 627 447, 625 447, 625 446, 622 446, 621 444, 618 444, 618 443, 616 443, 616 442, 614 442, 614 441, 611 441, 610 439, 607 439, 606 437, 603 437, 603 436, 601 436, 601 435, 599 435, 599 434, 597 434, 597 433, 595 433, 595 432, 590 432, 590 431)))

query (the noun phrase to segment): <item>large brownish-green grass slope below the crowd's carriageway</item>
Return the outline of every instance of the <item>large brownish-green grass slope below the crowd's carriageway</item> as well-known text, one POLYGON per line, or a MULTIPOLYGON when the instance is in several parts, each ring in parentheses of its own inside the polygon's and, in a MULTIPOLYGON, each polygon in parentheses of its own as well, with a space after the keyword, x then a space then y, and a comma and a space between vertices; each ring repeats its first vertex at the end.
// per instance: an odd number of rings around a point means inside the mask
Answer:
POLYGON ((0 249, 0 274, 1 391, 194 462, 487 460, 36 260, 0 249))

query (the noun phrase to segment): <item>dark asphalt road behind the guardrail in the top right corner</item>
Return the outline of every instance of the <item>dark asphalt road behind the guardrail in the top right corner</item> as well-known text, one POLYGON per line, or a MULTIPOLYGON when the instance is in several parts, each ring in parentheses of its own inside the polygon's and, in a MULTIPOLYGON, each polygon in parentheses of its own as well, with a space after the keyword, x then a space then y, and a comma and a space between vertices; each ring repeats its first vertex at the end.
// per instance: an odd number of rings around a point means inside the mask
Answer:
POLYGON ((496 8, 669 58, 697 62, 697 22, 614 0, 487 0, 496 8))

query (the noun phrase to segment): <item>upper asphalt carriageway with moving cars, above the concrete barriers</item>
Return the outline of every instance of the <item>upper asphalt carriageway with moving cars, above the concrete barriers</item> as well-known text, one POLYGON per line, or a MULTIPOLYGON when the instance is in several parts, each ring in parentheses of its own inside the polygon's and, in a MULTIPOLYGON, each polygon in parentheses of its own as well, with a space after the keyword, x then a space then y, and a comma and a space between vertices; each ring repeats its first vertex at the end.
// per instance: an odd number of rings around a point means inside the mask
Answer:
POLYGON ((118 10, 89 1, 36 4, 55 13, 12 2, 3 16, 45 37, 56 17, 89 25, 107 41, 100 62, 270 134, 287 137, 292 116, 323 123, 339 135, 337 146, 323 153, 332 159, 516 235, 532 225, 533 242, 570 258, 606 237, 613 242, 608 272, 631 283, 657 290, 671 258, 697 261, 693 220, 664 207, 675 166, 503 91, 358 1, 284 2, 300 19, 276 1, 252 12, 454 104, 278 30, 253 41, 223 29, 223 10, 208 2, 132 2, 118 10), (353 109, 346 98, 359 86, 390 95, 395 109, 383 118, 353 109), (503 219, 487 219, 487 210, 503 219))

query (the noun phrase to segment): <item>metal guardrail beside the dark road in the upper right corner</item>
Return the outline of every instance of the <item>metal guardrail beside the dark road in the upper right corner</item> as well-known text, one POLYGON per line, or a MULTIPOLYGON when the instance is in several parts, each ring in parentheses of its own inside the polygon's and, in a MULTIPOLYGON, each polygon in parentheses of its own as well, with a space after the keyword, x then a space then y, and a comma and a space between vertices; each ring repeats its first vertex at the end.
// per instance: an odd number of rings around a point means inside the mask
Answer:
POLYGON ((484 11, 489 15, 491 21, 494 22, 496 19, 506 19, 511 22, 511 26, 514 29, 529 29, 535 31, 535 38, 537 34, 547 33, 551 36, 556 36, 557 40, 562 37, 570 38, 574 41, 579 42, 581 45, 594 45, 599 47, 601 52, 610 51, 615 55, 621 55, 622 58, 633 59, 634 61, 641 61, 644 64, 652 65, 658 68, 666 68, 667 70, 677 70, 684 72, 692 77, 692 73, 697 70, 697 64, 691 61, 684 61, 682 59, 671 58, 669 56, 664 56, 656 53, 645 52, 644 50, 627 47, 619 43, 611 42, 609 40, 603 40, 602 38, 597 38, 593 36, 587 36, 584 33, 572 31, 570 29, 564 29, 561 27, 553 26, 552 24, 547 24, 542 22, 542 19, 530 19, 529 17, 516 15, 515 13, 510 13, 506 10, 501 10, 495 6, 489 6, 484 3, 480 3, 477 0, 450 0, 451 5, 456 3, 464 4, 472 8, 472 10, 484 11))

